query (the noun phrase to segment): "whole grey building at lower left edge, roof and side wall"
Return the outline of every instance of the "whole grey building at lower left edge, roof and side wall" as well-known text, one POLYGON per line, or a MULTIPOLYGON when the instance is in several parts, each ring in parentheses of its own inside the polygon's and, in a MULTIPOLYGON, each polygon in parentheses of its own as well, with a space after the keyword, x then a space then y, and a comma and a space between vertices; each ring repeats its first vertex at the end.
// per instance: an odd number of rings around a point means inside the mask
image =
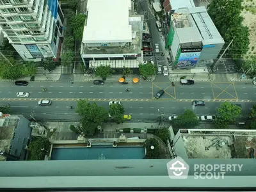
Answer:
POLYGON ((0 161, 25 160, 31 131, 24 116, 0 113, 0 161))

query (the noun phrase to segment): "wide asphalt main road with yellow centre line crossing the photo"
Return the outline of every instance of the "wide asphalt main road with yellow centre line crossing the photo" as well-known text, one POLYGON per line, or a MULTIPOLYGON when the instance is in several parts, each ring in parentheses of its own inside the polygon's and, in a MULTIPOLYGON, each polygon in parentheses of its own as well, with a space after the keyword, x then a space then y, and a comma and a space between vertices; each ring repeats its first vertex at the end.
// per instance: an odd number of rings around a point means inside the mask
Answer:
POLYGON ((241 104, 241 117, 246 117, 248 109, 255 103, 256 86, 251 83, 202 83, 195 85, 181 85, 175 87, 166 83, 142 82, 138 84, 122 85, 106 82, 104 85, 84 83, 40 83, 29 82, 28 86, 15 86, 12 82, 0 84, 0 105, 10 104, 14 113, 28 117, 33 114, 42 119, 79 119, 75 109, 76 99, 88 99, 108 108, 110 100, 121 100, 125 114, 134 119, 156 119, 159 114, 165 116, 180 115, 184 109, 192 109, 193 99, 205 100, 205 106, 197 107, 195 113, 200 115, 214 115, 220 104, 228 100, 234 104, 241 104), (44 84, 44 85, 42 85, 44 84), (42 92, 42 88, 47 92, 42 92), (125 92, 125 88, 131 92, 125 92), (158 90, 164 89, 161 99, 152 99, 158 90), (29 92, 26 99, 16 97, 17 92, 29 92), (236 97, 236 98, 234 98, 236 97), (41 99, 51 99, 51 106, 38 106, 41 99), (158 110, 159 109, 159 110, 158 110))

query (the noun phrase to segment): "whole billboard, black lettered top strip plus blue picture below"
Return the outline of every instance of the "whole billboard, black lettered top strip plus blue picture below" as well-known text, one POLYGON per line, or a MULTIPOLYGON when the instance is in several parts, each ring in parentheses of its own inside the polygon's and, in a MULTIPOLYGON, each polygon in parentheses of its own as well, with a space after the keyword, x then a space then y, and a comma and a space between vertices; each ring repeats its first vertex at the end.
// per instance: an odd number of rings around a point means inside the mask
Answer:
POLYGON ((182 48, 179 59, 177 61, 177 68, 192 68, 196 66, 199 60, 201 47, 198 48, 182 48))

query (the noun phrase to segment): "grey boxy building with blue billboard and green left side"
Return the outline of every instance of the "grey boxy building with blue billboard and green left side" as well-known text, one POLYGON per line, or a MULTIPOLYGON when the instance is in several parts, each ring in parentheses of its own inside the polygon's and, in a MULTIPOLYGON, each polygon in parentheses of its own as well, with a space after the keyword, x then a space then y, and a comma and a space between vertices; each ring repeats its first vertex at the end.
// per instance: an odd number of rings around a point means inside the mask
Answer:
POLYGON ((166 48, 170 50, 173 68, 207 72, 205 63, 218 57, 225 42, 206 8, 179 8, 170 14, 168 24, 166 48))

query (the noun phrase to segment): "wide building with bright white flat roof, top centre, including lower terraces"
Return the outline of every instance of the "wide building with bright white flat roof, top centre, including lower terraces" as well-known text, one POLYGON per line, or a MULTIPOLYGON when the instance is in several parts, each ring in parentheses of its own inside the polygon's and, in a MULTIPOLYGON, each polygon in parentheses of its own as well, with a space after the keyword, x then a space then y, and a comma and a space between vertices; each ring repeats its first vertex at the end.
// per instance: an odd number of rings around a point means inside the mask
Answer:
POLYGON ((143 16, 133 15, 131 0, 88 0, 81 57, 90 68, 137 68, 142 31, 143 16))

